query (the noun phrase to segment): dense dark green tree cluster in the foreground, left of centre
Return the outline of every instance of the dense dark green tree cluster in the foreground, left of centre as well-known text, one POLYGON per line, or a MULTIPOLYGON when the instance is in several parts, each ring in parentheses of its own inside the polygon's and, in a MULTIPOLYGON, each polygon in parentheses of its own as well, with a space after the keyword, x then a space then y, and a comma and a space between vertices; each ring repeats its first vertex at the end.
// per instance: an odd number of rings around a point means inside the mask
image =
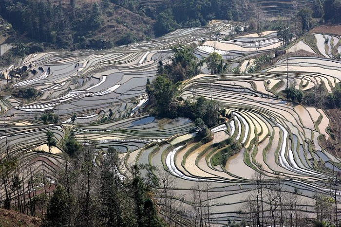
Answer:
POLYGON ((44 226, 164 226, 153 198, 159 179, 152 166, 133 166, 128 179, 115 165, 120 160, 114 149, 99 155, 95 162, 94 143, 76 154, 60 166, 44 226))

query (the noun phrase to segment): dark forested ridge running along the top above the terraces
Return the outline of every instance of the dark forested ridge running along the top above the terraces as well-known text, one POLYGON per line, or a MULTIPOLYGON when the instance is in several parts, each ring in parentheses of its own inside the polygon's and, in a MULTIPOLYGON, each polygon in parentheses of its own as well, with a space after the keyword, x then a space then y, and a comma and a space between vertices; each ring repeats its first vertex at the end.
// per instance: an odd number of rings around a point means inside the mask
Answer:
MULTIPOLYGON (((285 2, 282 10, 289 16, 295 7, 312 5, 316 17, 340 22, 340 1, 306 3, 285 2)), ((128 44, 178 28, 203 26, 212 19, 247 22, 251 30, 266 29, 271 26, 266 17, 276 18, 277 12, 264 12, 263 7, 266 4, 252 0, 2 0, 0 16, 13 25, 19 38, 76 50, 128 44)))

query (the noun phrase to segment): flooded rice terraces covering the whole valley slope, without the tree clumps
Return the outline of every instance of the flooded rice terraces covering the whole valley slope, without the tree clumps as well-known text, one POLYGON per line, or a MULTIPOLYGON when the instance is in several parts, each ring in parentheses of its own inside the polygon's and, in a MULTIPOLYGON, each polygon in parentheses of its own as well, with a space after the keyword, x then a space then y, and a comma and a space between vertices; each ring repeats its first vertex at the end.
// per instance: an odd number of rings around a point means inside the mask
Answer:
MULTIPOLYGON (((215 21, 101 52, 29 55, 21 64, 28 76, 9 76, 10 86, 34 87, 42 94, 27 103, 1 97, 0 142, 8 142, 12 154, 35 171, 44 168, 50 184, 55 183, 53 170, 63 157, 59 143, 47 152, 47 131, 60 141, 73 128, 82 143, 97 141, 94 162, 114 145, 124 160, 118 167, 121 177, 131 175, 133 164, 152 164, 161 179, 174 179, 166 196, 162 189, 156 194, 160 212, 171 214, 170 222, 223 226, 245 220, 251 225, 258 213, 263 224, 294 225, 293 212, 295 220, 311 220, 316 217, 317 194, 339 194, 329 182, 333 171, 341 171, 341 159, 322 147, 321 139, 329 138, 324 110, 285 101, 279 94, 286 84, 305 91, 322 82, 331 92, 341 82, 341 61, 331 59, 340 52, 340 35, 313 34, 296 40, 288 48, 290 57, 279 57, 258 73, 200 74, 184 83, 179 90, 184 100, 195 102, 204 96, 224 106, 224 122, 211 128, 211 141, 195 140, 196 127, 188 119, 138 114, 148 103, 146 80, 155 77, 158 61, 170 61, 171 46, 195 44, 198 58, 216 51, 241 72, 247 72, 260 54, 282 46, 274 31, 225 40, 236 25, 215 21), (295 56, 299 50, 315 57, 295 56), (46 110, 59 115, 61 123, 39 121, 46 110), (235 144, 242 145, 240 152, 233 153, 235 144), (264 193, 262 201, 259 193, 264 193), (285 198, 282 207, 274 202, 279 196, 285 198)), ((205 67, 202 70, 208 72, 205 67)))

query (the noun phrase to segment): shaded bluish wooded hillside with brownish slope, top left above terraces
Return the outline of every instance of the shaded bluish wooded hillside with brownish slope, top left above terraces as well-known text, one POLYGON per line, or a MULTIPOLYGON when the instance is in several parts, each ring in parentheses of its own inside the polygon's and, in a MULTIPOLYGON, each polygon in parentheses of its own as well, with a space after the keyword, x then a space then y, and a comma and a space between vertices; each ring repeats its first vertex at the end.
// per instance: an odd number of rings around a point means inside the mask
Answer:
POLYGON ((26 37, 64 49, 103 49, 153 36, 154 21, 109 0, 4 0, 1 16, 26 37))

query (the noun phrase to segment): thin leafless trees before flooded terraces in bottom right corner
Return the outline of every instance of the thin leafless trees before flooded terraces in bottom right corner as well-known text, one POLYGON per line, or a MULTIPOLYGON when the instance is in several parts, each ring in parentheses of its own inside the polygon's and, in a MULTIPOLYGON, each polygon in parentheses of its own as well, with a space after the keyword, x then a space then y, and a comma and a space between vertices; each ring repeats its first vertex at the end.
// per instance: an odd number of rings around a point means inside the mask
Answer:
POLYGON ((326 182, 327 188, 330 184, 329 193, 318 190, 313 195, 303 194, 285 181, 267 179, 265 175, 260 166, 252 177, 253 187, 243 210, 248 226, 338 225, 340 173, 331 172, 331 178, 326 182))

